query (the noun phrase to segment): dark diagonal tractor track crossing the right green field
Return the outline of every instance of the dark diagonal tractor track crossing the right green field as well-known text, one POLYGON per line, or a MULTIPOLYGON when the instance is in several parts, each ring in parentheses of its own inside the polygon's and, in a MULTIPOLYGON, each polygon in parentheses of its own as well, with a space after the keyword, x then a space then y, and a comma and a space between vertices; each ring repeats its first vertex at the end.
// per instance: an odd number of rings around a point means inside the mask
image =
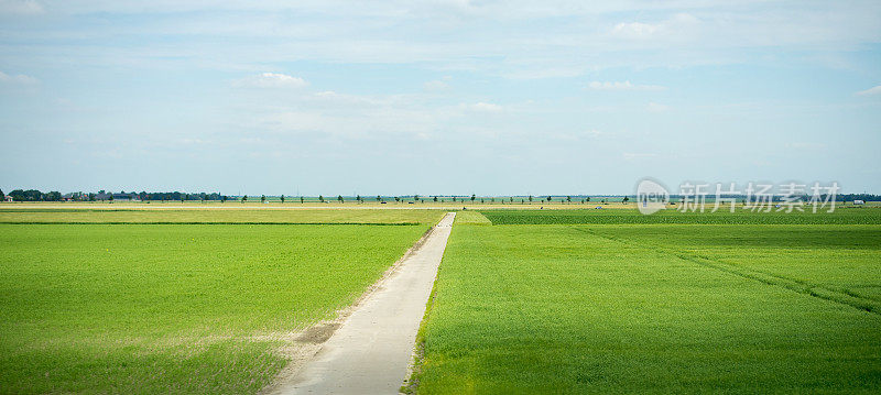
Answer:
POLYGON ((872 300, 872 299, 868 299, 868 298, 861 297, 861 296, 859 296, 857 294, 853 294, 853 293, 851 293, 851 292, 849 292, 847 289, 837 289, 837 288, 833 288, 833 287, 829 287, 829 286, 824 286, 824 285, 820 285, 820 284, 814 284, 814 283, 802 281, 802 279, 790 278, 790 277, 782 276, 782 275, 774 274, 774 273, 768 273, 768 272, 763 272, 763 271, 750 270, 750 268, 746 268, 746 267, 742 267, 742 266, 739 266, 739 265, 736 265, 736 264, 731 264, 731 263, 728 263, 728 262, 724 262, 724 261, 719 261, 719 260, 715 260, 715 259, 711 259, 711 257, 701 256, 701 255, 697 255, 697 254, 690 254, 690 253, 687 253, 687 252, 673 250, 673 249, 664 248, 664 246, 661 246, 661 245, 635 243, 635 242, 627 240, 627 239, 601 234, 601 233, 598 233, 598 232, 596 232, 596 231, 594 231, 591 229, 587 229, 587 228, 572 227, 572 229, 574 229, 576 231, 579 231, 579 232, 583 232, 583 233, 588 233, 590 235, 602 238, 602 239, 606 239, 606 240, 609 240, 609 241, 618 242, 618 243, 621 243, 621 244, 627 244, 627 245, 631 245, 631 246, 641 246, 641 248, 650 246, 653 251, 657 251, 657 252, 661 252, 661 253, 667 254, 667 255, 673 255, 673 256, 676 256, 676 257, 678 257, 678 259, 681 259, 683 261, 688 261, 688 262, 698 264, 698 265, 704 266, 704 267, 717 270, 717 271, 725 272, 725 273, 728 273, 728 274, 733 274, 736 276, 739 276, 739 277, 742 277, 742 278, 747 278, 747 279, 751 279, 751 281, 755 281, 755 282, 759 282, 759 283, 762 283, 762 284, 765 284, 765 285, 777 286, 777 287, 785 288, 785 289, 788 289, 788 290, 792 290, 792 292, 795 292, 795 293, 798 293, 798 294, 802 294, 802 295, 812 296, 812 297, 815 297, 815 298, 818 298, 818 299, 834 301, 834 303, 837 303, 837 304, 840 304, 840 305, 853 307, 856 309, 859 309, 859 310, 862 310, 862 311, 866 311, 866 312, 871 312, 871 314, 874 314, 874 315, 881 315, 881 303, 878 303, 877 300, 872 300))

